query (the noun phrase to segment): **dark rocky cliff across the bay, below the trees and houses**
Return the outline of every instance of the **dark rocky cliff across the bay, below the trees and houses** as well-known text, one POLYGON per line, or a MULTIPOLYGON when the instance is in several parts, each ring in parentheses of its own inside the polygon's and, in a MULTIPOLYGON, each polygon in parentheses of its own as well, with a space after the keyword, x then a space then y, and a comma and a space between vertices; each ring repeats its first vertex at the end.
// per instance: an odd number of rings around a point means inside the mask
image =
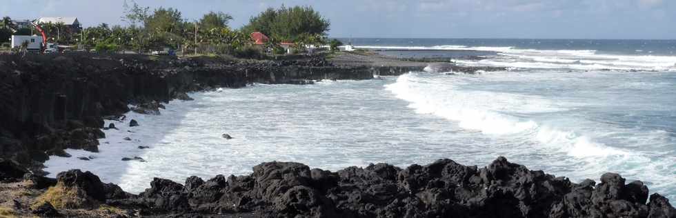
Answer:
POLYGON ((0 157, 37 164, 65 148, 96 152, 103 117, 128 105, 247 83, 371 79, 362 67, 321 60, 239 61, 136 55, 0 56, 0 157))

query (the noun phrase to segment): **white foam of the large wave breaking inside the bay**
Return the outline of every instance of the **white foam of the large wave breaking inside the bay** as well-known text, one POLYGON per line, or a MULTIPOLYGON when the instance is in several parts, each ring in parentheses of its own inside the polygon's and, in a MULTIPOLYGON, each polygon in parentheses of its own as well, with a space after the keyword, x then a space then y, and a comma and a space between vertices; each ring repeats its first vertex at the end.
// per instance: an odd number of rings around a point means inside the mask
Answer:
POLYGON ((555 112, 561 110, 546 99, 508 93, 457 90, 453 84, 434 83, 434 79, 401 75, 386 86, 400 99, 410 102, 418 113, 433 114, 457 121, 458 126, 479 130, 487 135, 533 135, 534 141, 572 157, 608 157, 626 152, 594 143, 574 132, 557 130, 529 119, 506 115, 505 112, 555 112))

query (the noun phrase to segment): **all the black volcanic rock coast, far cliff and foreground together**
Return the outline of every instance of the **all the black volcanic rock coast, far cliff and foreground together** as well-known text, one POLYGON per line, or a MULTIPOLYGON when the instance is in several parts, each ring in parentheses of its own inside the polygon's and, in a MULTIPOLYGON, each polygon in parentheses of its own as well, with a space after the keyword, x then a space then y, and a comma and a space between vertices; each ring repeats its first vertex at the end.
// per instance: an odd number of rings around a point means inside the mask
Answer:
POLYGON ((159 113, 170 99, 189 100, 186 92, 372 79, 425 66, 365 54, 268 61, 0 55, 0 217, 676 217, 668 199, 648 196, 641 181, 606 173, 599 183, 576 184, 504 157, 485 167, 441 159, 337 172, 267 162, 250 175, 155 178, 139 195, 91 172, 52 179, 40 170, 50 155, 69 156, 66 148, 97 152, 101 129, 116 128, 103 119, 123 119, 130 110, 159 113))

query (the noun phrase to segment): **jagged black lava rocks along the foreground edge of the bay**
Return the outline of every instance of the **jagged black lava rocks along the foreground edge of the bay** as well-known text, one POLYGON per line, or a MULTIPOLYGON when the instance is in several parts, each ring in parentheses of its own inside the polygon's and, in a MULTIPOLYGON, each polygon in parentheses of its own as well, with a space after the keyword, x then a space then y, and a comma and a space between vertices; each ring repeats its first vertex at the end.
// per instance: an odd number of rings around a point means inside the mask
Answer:
POLYGON ((606 173, 599 184, 575 184, 504 157, 484 168, 439 159, 404 169, 371 164, 337 172, 268 162, 250 175, 188 177, 184 184, 155 178, 139 195, 91 172, 69 170, 49 179, 7 163, 0 163, 3 181, 23 178, 29 187, 50 187, 37 200, 15 203, 17 215, 88 217, 83 210, 105 205, 106 217, 676 217, 668 199, 648 197, 641 181, 627 184, 606 173))

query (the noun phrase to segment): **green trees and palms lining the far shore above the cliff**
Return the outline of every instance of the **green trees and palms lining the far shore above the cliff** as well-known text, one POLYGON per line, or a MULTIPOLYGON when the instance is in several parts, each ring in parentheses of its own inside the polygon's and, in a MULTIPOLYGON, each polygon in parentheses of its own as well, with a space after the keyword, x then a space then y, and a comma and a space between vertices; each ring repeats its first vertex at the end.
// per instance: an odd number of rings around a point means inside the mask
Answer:
MULTIPOLYGON (((156 50, 177 50, 185 54, 230 54, 235 57, 259 58, 265 52, 284 54, 281 42, 295 43, 296 51, 306 46, 326 44, 330 22, 310 7, 268 8, 241 29, 228 26, 232 16, 211 11, 196 21, 183 18, 177 8, 149 8, 134 1, 123 3, 121 19, 125 26, 101 23, 88 28, 68 27, 63 23, 42 23, 48 42, 72 45, 73 49, 97 52, 135 51, 148 53, 156 50), (263 32, 270 37, 265 46, 252 45, 251 32, 263 32)), ((12 20, 0 20, 0 43, 8 41, 12 20)), ((16 30, 15 34, 37 33, 31 28, 16 30)))

